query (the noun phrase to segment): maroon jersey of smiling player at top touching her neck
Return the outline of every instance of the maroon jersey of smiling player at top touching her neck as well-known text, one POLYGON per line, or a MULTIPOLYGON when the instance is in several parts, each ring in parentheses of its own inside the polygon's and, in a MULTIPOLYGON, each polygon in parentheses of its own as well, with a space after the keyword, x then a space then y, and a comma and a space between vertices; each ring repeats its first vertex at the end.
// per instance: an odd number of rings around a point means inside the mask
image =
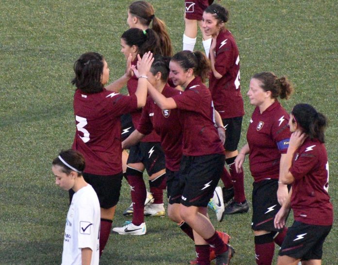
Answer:
POLYGON ((222 75, 217 79, 214 73, 210 72, 209 89, 215 109, 222 118, 241 117, 244 115, 244 103, 239 83, 239 52, 230 31, 219 33, 215 52, 215 69, 222 75))

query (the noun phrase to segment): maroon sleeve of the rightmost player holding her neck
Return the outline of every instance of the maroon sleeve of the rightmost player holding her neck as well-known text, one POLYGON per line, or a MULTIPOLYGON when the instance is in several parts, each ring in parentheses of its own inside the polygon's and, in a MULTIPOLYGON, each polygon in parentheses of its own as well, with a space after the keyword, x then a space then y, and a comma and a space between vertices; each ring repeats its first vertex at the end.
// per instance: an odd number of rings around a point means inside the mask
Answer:
POLYGON ((317 163, 318 158, 313 152, 303 152, 296 161, 292 162, 290 172, 296 180, 299 180, 310 172, 317 163))

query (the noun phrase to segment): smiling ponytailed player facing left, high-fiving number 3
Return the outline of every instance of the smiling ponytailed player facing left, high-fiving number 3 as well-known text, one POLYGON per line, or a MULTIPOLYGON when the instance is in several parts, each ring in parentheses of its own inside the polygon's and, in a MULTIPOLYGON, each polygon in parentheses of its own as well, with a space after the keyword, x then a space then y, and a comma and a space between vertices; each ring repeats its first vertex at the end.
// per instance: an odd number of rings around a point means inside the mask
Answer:
MULTIPOLYGON (((217 264, 229 264, 234 249, 223 243, 206 217, 224 166, 224 148, 214 126, 210 91, 204 85, 210 70, 208 59, 200 51, 180 51, 169 64, 169 78, 182 85, 182 94, 166 98, 154 87, 148 92, 162 110, 179 109, 183 129, 183 157, 180 178, 185 187, 181 196, 180 215, 194 230, 198 264, 210 264, 209 245, 217 255, 217 264)), ((174 129, 173 129, 174 130, 174 129)))

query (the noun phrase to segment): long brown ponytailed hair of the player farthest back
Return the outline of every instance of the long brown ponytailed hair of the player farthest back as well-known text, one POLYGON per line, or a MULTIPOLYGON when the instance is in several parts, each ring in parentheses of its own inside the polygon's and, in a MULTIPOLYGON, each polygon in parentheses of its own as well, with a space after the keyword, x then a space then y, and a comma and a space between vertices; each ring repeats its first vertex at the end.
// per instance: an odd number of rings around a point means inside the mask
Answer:
POLYGON ((146 1, 135 1, 129 6, 129 13, 137 17, 142 25, 149 27, 152 22, 152 30, 157 33, 160 40, 160 49, 163 56, 172 56, 172 45, 165 23, 155 17, 152 4, 146 1))

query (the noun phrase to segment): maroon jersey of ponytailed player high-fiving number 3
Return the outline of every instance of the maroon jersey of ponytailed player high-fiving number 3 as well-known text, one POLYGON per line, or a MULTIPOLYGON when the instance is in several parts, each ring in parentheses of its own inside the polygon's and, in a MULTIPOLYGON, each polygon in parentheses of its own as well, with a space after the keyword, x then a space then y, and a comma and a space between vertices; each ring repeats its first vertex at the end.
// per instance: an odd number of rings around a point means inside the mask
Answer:
POLYGON ((210 91, 201 78, 196 77, 182 94, 172 98, 180 109, 183 154, 200 156, 224 153, 224 147, 214 126, 214 107, 210 91))

